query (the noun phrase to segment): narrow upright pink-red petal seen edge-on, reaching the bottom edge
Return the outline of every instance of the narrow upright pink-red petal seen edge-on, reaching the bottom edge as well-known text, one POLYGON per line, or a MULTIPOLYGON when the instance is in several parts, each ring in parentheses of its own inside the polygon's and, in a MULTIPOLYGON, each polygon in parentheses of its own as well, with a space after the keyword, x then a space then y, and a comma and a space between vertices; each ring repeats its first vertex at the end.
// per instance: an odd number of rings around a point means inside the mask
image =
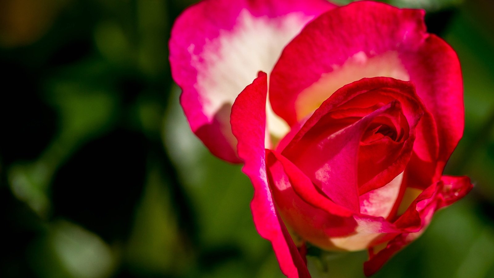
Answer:
POLYGON ((238 139, 238 153, 245 162, 244 173, 254 186, 250 204, 259 234, 270 240, 282 272, 289 278, 309 278, 309 272, 293 243, 278 210, 266 178, 264 133, 266 126, 267 75, 259 77, 240 93, 232 106, 232 131, 238 139))

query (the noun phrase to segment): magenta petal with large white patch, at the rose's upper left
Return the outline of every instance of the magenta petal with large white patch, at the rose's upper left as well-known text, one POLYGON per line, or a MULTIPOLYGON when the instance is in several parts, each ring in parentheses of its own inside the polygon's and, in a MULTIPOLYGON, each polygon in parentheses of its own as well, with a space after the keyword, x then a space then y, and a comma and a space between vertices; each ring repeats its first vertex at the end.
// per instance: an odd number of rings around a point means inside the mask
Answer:
POLYGON ((216 156, 240 162, 230 111, 258 71, 271 72, 281 50, 325 0, 203 0, 175 22, 170 40, 173 79, 192 131, 216 156))

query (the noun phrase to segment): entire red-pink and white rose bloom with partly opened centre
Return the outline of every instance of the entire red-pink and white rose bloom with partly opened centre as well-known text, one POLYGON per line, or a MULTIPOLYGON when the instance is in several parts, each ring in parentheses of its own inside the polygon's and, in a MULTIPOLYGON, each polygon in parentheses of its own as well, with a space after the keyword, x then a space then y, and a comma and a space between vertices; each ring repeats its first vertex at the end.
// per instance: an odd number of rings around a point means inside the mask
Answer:
POLYGON ((244 161, 256 229, 287 276, 310 276, 287 226, 322 249, 368 248, 371 275, 471 189, 442 176, 463 133, 462 78, 423 15, 205 0, 176 21, 170 63, 191 128, 244 161), (267 74, 248 85, 258 71, 270 72, 269 96, 267 74))

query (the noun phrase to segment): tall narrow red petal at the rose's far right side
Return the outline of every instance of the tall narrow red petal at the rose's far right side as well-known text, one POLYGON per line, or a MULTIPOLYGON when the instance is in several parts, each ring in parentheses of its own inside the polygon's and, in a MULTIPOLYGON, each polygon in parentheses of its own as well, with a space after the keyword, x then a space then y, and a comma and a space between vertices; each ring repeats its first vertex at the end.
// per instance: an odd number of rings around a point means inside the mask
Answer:
POLYGON ((406 51, 402 61, 415 83, 417 94, 434 116, 443 165, 463 136, 463 80, 456 52, 431 34, 416 51, 406 51))

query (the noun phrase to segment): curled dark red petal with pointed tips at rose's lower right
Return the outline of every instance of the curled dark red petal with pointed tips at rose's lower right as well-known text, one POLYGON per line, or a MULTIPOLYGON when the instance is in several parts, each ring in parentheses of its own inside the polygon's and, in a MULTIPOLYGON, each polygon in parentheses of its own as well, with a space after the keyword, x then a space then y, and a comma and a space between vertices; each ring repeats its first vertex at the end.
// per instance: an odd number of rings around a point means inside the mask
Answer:
POLYGON ((472 184, 467 177, 443 176, 441 181, 431 185, 420 194, 413 205, 397 222, 396 225, 417 224, 413 218, 418 218, 418 232, 402 233, 393 238, 382 250, 369 249, 369 261, 364 264, 364 273, 371 276, 378 271, 391 256, 408 245, 422 234, 429 225, 436 210, 448 206, 465 196, 472 184), (406 219, 412 218, 412 219, 406 219))

